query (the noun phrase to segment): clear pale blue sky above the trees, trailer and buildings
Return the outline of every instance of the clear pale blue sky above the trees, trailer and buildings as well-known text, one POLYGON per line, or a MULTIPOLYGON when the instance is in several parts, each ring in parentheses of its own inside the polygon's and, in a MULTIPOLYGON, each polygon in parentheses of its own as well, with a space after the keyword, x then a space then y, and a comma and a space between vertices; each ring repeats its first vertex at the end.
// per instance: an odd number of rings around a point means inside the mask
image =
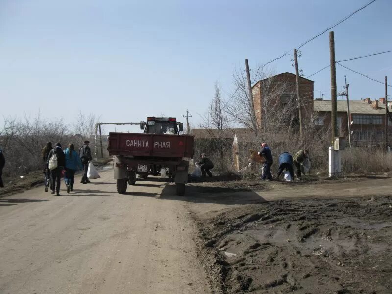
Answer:
MULTIPOLYGON (((256 68, 368 1, 0 0, 0 115, 71 123, 80 109, 140 121, 188 108, 196 125, 214 83, 229 96, 245 58, 256 68)), ((391 50, 391 15, 392 1, 377 0, 334 28, 336 58, 391 50)), ((328 33, 301 51, 305 76, 328 65, 328 33)), ((290 58, 271 67, 294 73, 290 58)), ((392 53, 344 64, 392 84, 392 53)), ((383 85, 337 65, 338 91, 344 75, 352 99, 384 96, 383 85)), ((329 69, 311 77, 316 97, 330 98, 329 78, 329 69)))

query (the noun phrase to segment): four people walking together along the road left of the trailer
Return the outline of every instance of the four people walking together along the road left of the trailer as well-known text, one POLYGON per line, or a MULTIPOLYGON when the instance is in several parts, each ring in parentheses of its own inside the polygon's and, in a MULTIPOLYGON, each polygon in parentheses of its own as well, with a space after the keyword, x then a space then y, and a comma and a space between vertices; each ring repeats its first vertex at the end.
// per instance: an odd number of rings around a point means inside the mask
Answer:
POLYGON ((52 194, 60 196, 60 184, 62 173, 64 173, 64 182, 67 186, 67 193, 73 191, 73 184, 75 172, 83 170, 81 179, 82 184, 90 183, 87 177, 89 162, 93 160, 89 141, 84 141, 84 144, 75 151, 73 143, 68 145, 65 150, 62 149, 61 144, 58 142, 52 146, 48 142, 42 149, 42 160, 44 163, 44 178, 45 178, 45 192, 50 188, 52 194))

